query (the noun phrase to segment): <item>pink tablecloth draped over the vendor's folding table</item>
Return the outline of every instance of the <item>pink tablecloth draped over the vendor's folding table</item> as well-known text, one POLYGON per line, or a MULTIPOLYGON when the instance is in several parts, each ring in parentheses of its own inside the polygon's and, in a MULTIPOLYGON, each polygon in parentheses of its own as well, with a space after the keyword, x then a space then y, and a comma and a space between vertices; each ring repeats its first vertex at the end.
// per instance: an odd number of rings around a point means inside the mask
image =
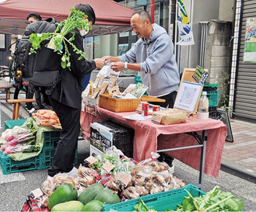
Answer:
MULTIPOLYGON (((186 123, 177 123, 171 125, 162 125, 153 123, 150 119, 144 121, 127 120, 123 116, 131 115, 135 112, 114 113, 110 110, 97 108, 97 116, 81 112, 80 123, 83 137, 89 141, 89 125, 93 121, 111 120, 120 123, 126 127, 132 127, 135 130, 133 158, 138 161, 151 157, 151 152, 157 149, 175 148, 198 144, 194 137, 186 132, 202 133, 202 130, 208 130, 205 174, 218 177, 223 146, 226 140, 226 126, 219 120, 194 120, 188 118, 186 123)), ((169 155, 179 159, 192 168, 199 170, 201 148, 190 148, 186 150, 170 151, 169 155)))

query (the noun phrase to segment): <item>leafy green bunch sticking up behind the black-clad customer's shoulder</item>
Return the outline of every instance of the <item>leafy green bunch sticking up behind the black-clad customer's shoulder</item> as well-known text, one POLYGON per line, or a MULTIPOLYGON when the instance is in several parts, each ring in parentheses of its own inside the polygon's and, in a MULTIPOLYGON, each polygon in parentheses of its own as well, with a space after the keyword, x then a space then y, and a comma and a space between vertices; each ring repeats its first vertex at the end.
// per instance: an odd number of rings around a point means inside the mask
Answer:
POLYGON ((68 19, 65 19, 61 23, 58 23, 56 30, 53 33, 32 33, 30 35, 30 42, 32 43, 31 53, 36 53, 41 47, 41 43, 44 40, 50 40, 47 47, 53 48, 55 52, 60 54, 61 57, 61 67, 68 68, 70 70, 70 53, 68 51, 68 44, 72 46, 76 54, 80 54, 79 60, 85 57, 85 53, 79 50, 72 43, 75 39, 75 29, 84 29, 86 31, 91 30, 92 26, 89 25, 89 21, 84 12, 78 11, 75 8, 70 9, 68 19), (65 35, 72 33, 72 36, 67 39, 65 35))

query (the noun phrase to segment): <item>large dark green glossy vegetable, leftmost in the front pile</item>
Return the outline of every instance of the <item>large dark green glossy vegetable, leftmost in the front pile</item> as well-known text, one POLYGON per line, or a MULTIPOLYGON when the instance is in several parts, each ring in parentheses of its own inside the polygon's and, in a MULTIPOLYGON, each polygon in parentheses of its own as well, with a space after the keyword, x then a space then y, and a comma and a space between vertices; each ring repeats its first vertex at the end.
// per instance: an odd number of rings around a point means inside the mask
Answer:
POLYGON ((51 194, 47 207, 51 210, 58 203, 65 203, 71 200, 77 200, 77 190, 71 184, 63 183, 51 194))

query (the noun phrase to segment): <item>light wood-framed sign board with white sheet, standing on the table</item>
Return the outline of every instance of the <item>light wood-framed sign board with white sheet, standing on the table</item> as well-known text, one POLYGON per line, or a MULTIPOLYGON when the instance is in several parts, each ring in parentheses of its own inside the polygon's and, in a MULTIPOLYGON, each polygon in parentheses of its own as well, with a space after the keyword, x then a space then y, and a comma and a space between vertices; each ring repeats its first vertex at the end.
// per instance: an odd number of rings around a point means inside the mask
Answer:
MULTIPOLYGON (((208 70, 205 70, 205 71, 208 71, 208 70)), ((197 109, 198 109, 198 103, 199 103, 199 100, 200 100, 200 96, 201 96, 201 93, 202 93, 202 89, 203 89, 203 85, 202 84, 199 84, 195 78, 193 78, 193 74, 195 72, 195 68, 184 68, 184 71, 183 71, 183 74, 182 74, 182 77, 181 77, 181 83, 180 83, 180 86, 179 86, 179 89, 177 91, 177 96, 176 96, 176 99, 175 99, 175 103, 174 103, 174 108, 178 108, 178 109, 183 109, 185 110, 186 112, 188 113, 193 113, 195 114, 197 109), (184 85, 182 84, 183 82, 185 82, 186 84, 191 84, 191 86, 194 86, 194 85, 198 85, 200 86, 200 92, 196 92, 195 93, 195 96, 193 96, 193 98, 197 98, 197 99, 193 99, 193 102, 196 103, 194 104, 194 109, 185 109, 185 108, 180 108, 180 107, 177 107, 177 99, 180 98, 180 95, 181 95, 181 87, 184 85), (194 84, 194 85, 193 85, 194 84)), ((194 87, 197 87, 197 86, 194 86, 194 87)))

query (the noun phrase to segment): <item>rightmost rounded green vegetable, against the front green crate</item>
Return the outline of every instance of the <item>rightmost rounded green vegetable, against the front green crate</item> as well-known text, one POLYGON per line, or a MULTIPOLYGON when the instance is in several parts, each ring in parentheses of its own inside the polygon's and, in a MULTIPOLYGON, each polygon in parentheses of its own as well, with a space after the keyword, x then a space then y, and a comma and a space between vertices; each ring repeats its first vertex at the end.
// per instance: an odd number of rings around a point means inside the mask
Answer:
POLYGON ((120 202, 120 198, 117 193, 110 189, 103 189, 100 191, 94 200, 99 200, 100 202, 106 204, 114 204, 120 202))

